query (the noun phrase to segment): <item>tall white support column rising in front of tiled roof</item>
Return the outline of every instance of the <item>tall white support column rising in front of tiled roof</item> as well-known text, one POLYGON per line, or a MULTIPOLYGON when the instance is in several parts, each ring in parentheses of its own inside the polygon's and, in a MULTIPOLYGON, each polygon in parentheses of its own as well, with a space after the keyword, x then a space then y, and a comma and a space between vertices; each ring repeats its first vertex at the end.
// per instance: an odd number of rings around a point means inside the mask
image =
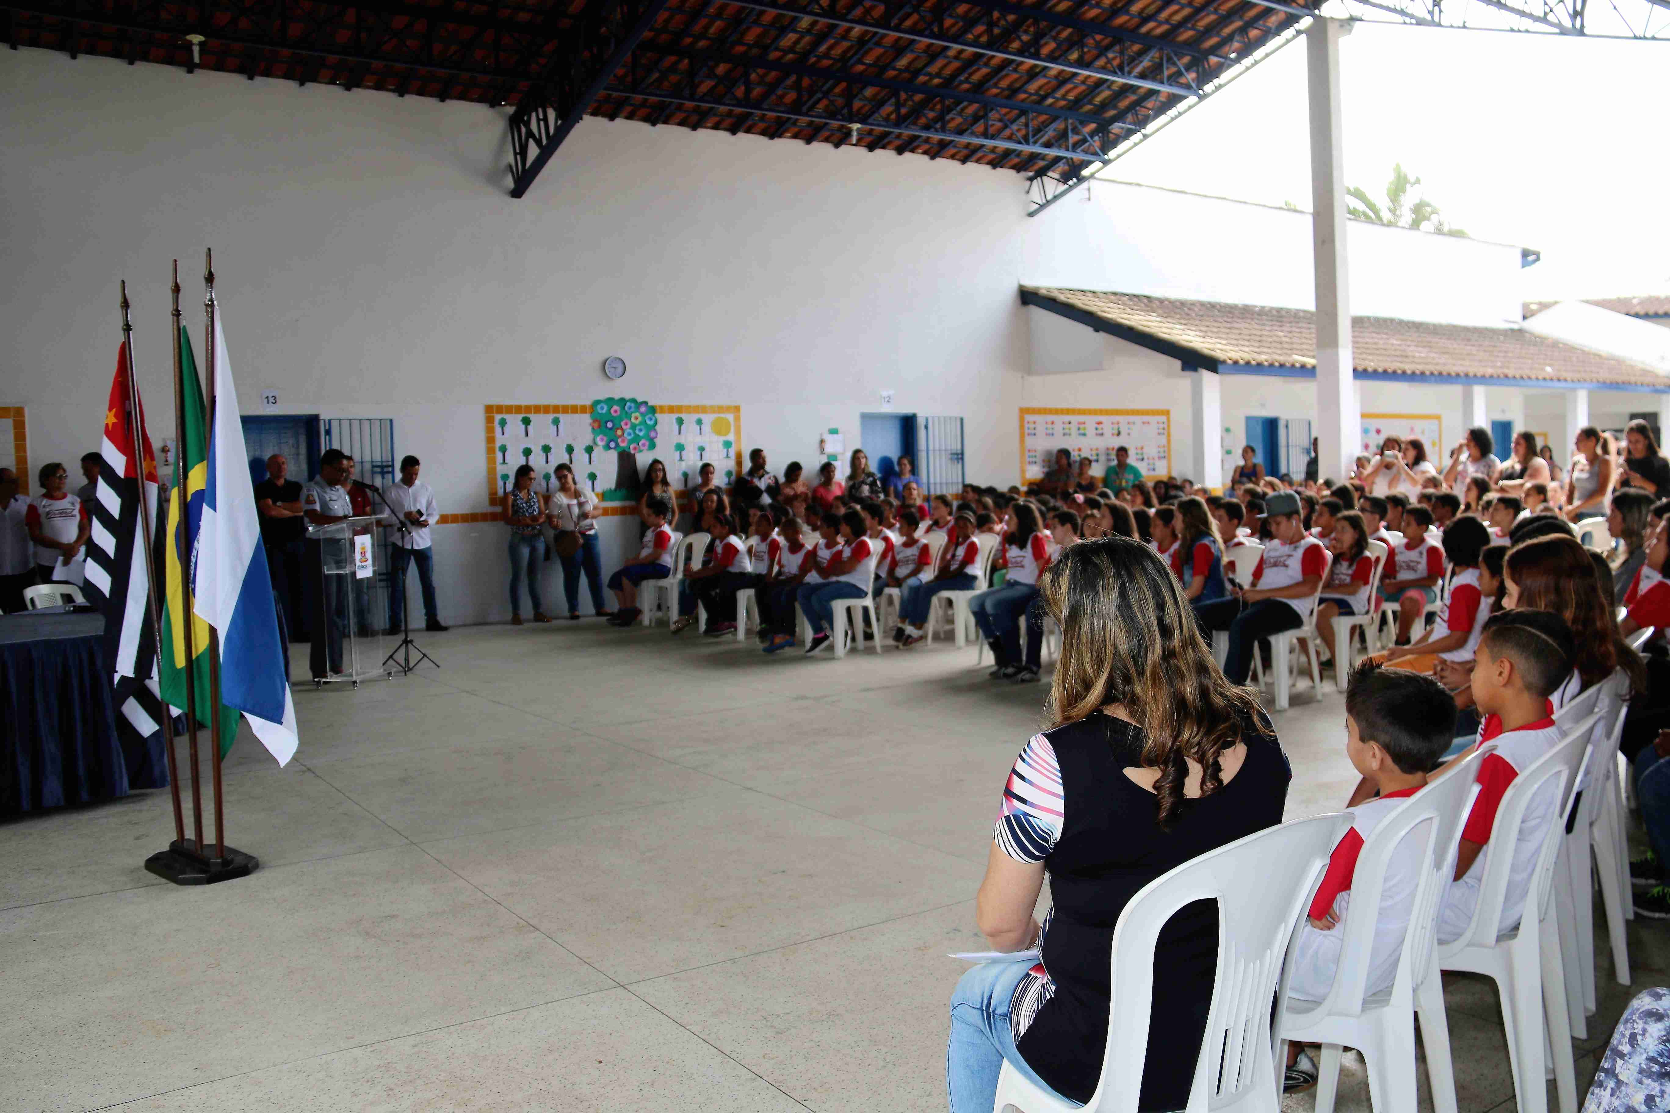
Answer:
POLYGON ((1316 439, 1323 476, 1349 476, 1363 439, 1363 414, 1351 374, 1344 123, 1339 98, 1339 40, 1349 32, 1349 22, 1329 18, 1316 18, 1306 32, 1311 240, 1316 254, 1316 439))

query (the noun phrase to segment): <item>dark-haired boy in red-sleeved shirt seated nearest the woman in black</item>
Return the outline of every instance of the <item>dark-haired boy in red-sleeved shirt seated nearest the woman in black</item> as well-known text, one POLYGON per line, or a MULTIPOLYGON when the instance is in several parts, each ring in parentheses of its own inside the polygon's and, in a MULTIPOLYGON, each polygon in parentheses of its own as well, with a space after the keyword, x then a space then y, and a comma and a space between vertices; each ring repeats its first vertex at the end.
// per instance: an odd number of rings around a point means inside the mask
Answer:
MULTIPOLYGON (((1430 676, 1384 669, 1364 662, 1351 671, 1346 687, 1346 758, 1363 774, 1369 799, 1348 808, 1351 829, 1328 858, 1328 869, 1311 898, 1308 921, 1299 924, 1289 964, 1289 993, 1301 1001, 1321 1001, 1339 971, 1344 931, 1339 924, 1351 913, 1351 881, 1363 844, 1404 799, 1426 784, 1426 771, 1455 734, 1456 708, 1430 676)), ((1364 789, 1359 789, 1363 793, 1364 789)), ((1398 956, 1409 926, 1421 854, 1406 838, 1386 866, 1379 908, 1356 909, 1374 916, 1374 944, 1369 951, 1366 993, 1383 993, 1398 976, 1398 956)), ((1304 1090, 1316 1081, 1316 1065, 1298 1045, 1288 1050, 1284 1090, 1304 1090)))

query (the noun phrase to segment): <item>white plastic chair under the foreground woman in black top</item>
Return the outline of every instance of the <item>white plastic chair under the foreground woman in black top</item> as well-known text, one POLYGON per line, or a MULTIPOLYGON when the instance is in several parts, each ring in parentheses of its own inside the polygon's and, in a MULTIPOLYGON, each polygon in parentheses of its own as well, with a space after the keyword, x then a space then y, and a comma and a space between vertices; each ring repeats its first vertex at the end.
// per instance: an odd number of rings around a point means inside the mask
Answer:
POLYGON ((1134 1113, 1147 1055, 1154 943, 1172 913, 1217 901, 1217 980, 1206 1038, 1194 1063, 1189 1113, 1276 1113, 1281 1106, 1271 1001, 1284 1005, 1288 941, 1351 816, 1331 814, 1269 828, 1201 854, 1142 886, 1119 913, 1112 946, 1112 1001, 1102 1076, 1084 1106, 1040 1090, 1009 1063, 997 1078, 994 1113, 1134 1113))

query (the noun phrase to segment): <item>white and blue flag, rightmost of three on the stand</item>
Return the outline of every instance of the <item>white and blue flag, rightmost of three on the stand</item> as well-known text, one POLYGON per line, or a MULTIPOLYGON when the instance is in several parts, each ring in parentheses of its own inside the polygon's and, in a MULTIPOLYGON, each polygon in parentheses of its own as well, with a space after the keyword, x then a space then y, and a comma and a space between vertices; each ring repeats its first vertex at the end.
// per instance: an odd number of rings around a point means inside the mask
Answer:
POLYGON ((222 704, 244 713, 256 738, 282 766, 296 753, 296 704, 284 676, 284 644, 219 312, 214 347, 214 429, 209 434, 209 489, 197 532, 194 609, 220 634, 222 704))

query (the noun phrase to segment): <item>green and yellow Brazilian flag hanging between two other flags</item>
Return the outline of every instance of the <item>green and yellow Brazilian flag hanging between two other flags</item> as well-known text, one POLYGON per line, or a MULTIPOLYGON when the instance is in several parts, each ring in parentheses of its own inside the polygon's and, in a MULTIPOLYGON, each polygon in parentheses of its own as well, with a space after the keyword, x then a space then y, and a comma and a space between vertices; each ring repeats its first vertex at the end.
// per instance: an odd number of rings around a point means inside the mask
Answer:
MULTIPOLYGON (((205 729, 210 724, 210 686, 209 686, 209 624, 192 612, 189 581, 195 582, 197 552, 185 549, 185 521, 190 521, 190 536, 195 547, 204 512, 204 491, 209 486, 209 407, 204 402, 202 385, 197 382, 197 360, 192 359, 192 339, 180 327, 180 372, 182 404, 185 410, 185 439, 179 446, 179 457, 174 466, 174 494, 169 497, 169 534, 167 544, 167 597, 162 606, 162 652, 157 654, 160 667, 162 698, 174 708, 185 711, 185 669, 190 667, 195 699, 197 723, 205 729), (192 627, 192 649, 195 656, 185 659, 185 622, 192 627)), ((220 704, 220 756, 225 758, 237 738, 237 723, 242 716, 232 708, 220 704)))

